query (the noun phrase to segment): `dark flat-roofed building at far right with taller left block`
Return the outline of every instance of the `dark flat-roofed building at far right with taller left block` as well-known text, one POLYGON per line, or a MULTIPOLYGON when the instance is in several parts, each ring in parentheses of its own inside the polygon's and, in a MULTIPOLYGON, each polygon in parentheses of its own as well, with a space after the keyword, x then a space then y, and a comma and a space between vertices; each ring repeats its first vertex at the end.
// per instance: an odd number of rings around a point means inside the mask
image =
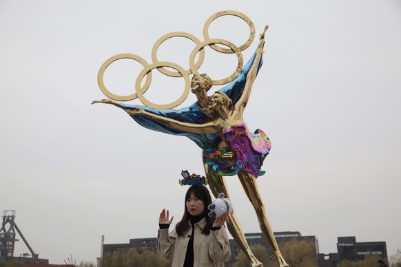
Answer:
POLYGON ((356 237, 338 237, 337 238, 338 261, 343 259, 349 261, 363 261, 364 256, 378 255, 387 260, 386 242, 356 242, 356 237))

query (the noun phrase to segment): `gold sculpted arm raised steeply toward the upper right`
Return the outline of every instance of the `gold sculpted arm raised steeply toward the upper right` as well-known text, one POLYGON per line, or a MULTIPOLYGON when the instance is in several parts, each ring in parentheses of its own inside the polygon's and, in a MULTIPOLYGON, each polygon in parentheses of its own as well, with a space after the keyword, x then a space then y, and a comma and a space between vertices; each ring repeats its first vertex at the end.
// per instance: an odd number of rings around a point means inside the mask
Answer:
POLYGON ((268 28, 269 28, 269 26, 266 25, 265 29, 263 30, 263 33, 260 34, 260 38, 259 38, 260 42, 258 45, 258 49, 256 50, 256 56, 255 56, 254 63, 252 64, 252 66, 249 69, 249 72, 247 74, 247 82, 245 83, 244 92, 243 92, 242 96, 240 97, 240 99, 238 100, 238 102, 236 103, 236 105, 234 106, 234 111, 239 112, 239 114, 241 116, 243 115, 243 111, 244 111, 245 107, 247 106, 249 96, 251 95, 252 85, 254 85, 256 74, 258 72, 258 63, 260 61, 260 58, 263 55, 263 47, 265 46, 265 33, 268 28))

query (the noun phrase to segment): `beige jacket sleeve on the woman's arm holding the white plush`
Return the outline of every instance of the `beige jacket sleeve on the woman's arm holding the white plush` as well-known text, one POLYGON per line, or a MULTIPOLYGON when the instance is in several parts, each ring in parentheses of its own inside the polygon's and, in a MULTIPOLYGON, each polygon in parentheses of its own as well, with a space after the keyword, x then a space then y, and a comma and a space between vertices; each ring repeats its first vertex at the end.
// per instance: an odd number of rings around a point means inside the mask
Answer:
POLYGON ((209 256, 214 262, 225 262, 231 256, 231 249, 225 227, 219 230, 210 231, 212 238, 209 244, 209 256))

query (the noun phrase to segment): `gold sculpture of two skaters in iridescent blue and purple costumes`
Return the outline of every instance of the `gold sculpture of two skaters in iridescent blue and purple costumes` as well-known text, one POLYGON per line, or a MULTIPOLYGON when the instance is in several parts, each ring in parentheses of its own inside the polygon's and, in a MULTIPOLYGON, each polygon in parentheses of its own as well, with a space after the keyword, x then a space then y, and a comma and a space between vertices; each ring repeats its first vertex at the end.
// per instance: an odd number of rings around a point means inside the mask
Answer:
MULTIPOLYGON (((232 81, 229 86, 220 89, 212 96, 207 96, 207 92, 213 84, 218 83, 214 83, 214 80, 206 74, 198 74, 196 70, 192 70, 194 77, 190 83, 190 89, 198 100, 190 107, 179 110, 156 109, 154 107, 124 105, 110 99, 94 101, 92 104, 115 105, 124 109, 143 127, 164 133, 187 136, 194 140, 203 149, 205 173, 214 197, 218 197, 219 193, 224 193, 226 197, 229 197, 224 175, 238 175, 249 201, 254 206, 260 229, 269 242, 274 255, 276 255, 278 264, 282 267, 288 266, 288 264, 280 253, 256 184, 258 175, 265 173, 260 167, 265 156, 269 153, 271 143, 260 129, 250 133, 243 120, 243 112, 261 65, 267 28, 266 26, 263 33, 260 34, 256 52, 243 68, 240 76, 232 81)), ((209 40, 200 45, 209 43, 214 42, 209 40)), ((224 42, 217 41, 216 43, 224 42)), ((200 49, 200 45, 196 47, 196 50, 200 49)), ((231 47, 232 52, 238 54, 235 45, 229 47, 231 47)), ((242 63, 238 63, 238 65, 242 66, 242 63)), ((176 68, 176 70, 178 69, 176 68)), ((181 74, 184 72, 184 70, 180 70, 181 74)), ((145 73, 139 76, 143 77, 144 75, 145 73)), ((136 92, 138 93, 138 89, 136 92)), ((263 266, 249 249, 234 211, 229 213, 227 227, 240 248, 245 252, 251 266, 263 266)))

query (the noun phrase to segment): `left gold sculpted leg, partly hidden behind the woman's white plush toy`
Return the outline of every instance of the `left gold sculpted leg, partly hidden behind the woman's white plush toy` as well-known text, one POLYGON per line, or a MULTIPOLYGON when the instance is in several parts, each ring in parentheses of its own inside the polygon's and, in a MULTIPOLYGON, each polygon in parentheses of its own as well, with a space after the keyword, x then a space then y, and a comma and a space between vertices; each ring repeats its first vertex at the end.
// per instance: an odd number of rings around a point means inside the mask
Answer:
MULTIPOLYGON (((227 191, 227 187, 225 185, 225 180, 223 176, 216 175, 213 171, 204 164, 205 173, 207 179, 209 180, 209 187, 214 195, 214 197, 218 197, 219 193, 224 193, 225 197, 229 198, 229 193, 227 191)), ((263 264, 256 259, 254 254, 252 254, 251 250, 249 249, 249 245, 247 240, 245 239, 243 229, 241 228, 236 215, 234 214, 234 209, 232 213, 228 215, 227 219, 227 228, 229 233, 231 233, 232 237, 234 237, 235 241, 237 242, 238 246, 243 250, 252 267, 263 267, 263 264)))

